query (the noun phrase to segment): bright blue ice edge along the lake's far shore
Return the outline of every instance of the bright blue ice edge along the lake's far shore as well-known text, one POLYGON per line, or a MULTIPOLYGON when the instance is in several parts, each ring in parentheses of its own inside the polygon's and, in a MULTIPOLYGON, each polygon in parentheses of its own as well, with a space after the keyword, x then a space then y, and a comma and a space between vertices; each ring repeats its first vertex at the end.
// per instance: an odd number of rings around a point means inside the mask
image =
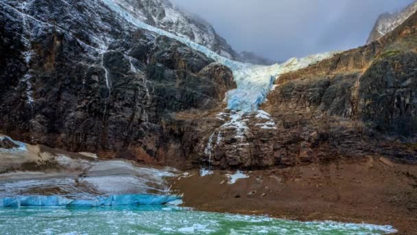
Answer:
POLYGON ((156 194, 119 194, 110 196, 96 196, 86 199, 70 199, 67 197, 52 195, 30 195, 0 198, 0 208, 15 207, 50 207, 60 206, 69 208, 94 208, 113 205, 164 205, 172 201, 180 200, 175 195, 156 194))

